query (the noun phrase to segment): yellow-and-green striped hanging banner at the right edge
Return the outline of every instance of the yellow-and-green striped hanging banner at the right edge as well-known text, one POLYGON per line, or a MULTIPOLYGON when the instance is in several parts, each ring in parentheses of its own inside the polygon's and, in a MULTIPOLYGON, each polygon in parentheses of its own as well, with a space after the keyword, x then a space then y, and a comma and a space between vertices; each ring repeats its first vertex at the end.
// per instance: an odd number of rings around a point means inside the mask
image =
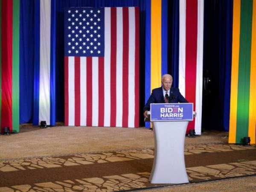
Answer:
POLYGON ((234 0, 229 143, 256 134, 256 0, 234 0))

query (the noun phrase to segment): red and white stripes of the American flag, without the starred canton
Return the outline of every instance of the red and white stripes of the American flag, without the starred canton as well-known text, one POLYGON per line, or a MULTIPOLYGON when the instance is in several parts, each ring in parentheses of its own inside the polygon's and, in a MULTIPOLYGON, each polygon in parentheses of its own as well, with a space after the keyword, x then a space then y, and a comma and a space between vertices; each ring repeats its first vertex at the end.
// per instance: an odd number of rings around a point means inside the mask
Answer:
POLYGON ((139 9, 104 15, 104 57, 65 56, 65 125, 138 127, 139 9))

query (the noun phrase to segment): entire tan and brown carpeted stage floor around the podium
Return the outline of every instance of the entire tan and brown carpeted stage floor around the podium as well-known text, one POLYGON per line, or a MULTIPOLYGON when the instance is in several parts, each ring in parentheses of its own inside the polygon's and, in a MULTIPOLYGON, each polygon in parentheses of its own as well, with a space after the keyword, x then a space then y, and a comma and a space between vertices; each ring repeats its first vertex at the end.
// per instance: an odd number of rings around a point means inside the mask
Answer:
POLYGON ((183 185, 148 181, 154 137, 146 128, 26 124, 20 133, 0 135, 0 140, 0 192, 234 192, 256 187, 255 146, 228 144, 227 132, 205 131, 195 138, 186 137, 190 183, 183 185))

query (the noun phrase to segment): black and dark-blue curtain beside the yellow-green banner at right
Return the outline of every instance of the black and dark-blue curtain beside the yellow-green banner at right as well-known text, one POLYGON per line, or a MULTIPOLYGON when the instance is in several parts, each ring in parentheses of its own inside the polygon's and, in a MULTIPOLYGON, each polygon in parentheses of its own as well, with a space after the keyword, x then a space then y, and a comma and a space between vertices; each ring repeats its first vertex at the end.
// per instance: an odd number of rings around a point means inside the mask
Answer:
POLYGON ((202 128, 229 130, 233 0, 204 1, 202 128))

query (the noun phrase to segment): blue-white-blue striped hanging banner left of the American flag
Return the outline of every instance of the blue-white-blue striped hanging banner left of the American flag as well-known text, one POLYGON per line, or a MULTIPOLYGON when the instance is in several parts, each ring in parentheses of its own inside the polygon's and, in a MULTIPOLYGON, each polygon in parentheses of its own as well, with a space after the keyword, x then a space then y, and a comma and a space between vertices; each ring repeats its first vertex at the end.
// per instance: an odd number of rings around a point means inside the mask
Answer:
POLYGON ((55 0, 35 0, 34 125, 55 125, 55 9, 55 0))

